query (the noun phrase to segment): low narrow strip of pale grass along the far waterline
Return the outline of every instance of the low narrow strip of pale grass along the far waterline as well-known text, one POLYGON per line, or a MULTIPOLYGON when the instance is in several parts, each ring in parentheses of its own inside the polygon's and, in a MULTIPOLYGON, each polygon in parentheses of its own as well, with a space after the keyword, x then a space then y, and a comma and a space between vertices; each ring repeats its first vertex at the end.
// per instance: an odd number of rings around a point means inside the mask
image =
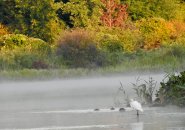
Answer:
POLYGON ((125 68, 123 66, 96 68, 96 69, 22 69, 22 70, 2 70, 0 71, 0 82, 3 81, 29 81, 29 80, 55 80, 70 78, 104 77, 115 75, 134 75, 134 74, 169 74, 181 72, 184 68, 167 68, 167 66, 140 66, 125 68))

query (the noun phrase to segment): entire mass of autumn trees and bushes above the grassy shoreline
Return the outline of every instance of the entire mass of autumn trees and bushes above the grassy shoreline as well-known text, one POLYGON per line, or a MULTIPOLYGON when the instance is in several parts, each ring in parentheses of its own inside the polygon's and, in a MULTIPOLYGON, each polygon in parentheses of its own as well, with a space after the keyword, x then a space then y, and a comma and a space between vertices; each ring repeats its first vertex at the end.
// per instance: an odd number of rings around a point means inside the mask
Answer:
POLYGON ((183 64, 184 14, 182 0, 1 0, 0 68, 183 64))

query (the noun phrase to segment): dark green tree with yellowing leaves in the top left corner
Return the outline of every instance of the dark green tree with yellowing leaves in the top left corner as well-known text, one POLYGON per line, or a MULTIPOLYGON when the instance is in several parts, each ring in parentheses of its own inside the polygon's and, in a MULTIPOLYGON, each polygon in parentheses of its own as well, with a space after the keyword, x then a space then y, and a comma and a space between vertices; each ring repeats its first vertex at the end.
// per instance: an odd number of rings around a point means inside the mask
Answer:
POLYGON ((15 33, 52 42, 61 23, 53 0, 0 1, 0 22, 15 33))

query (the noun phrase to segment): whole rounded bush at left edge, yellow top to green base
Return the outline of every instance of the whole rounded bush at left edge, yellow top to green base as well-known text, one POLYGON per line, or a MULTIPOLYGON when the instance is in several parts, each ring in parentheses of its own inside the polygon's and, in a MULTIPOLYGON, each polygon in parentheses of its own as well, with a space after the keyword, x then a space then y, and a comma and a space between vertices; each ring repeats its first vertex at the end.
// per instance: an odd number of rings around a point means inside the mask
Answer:
POLYGON ((46 64, 51 56, 51 48, 46 42, 21 34, 0 37, 0 45, 0 59, 9 69, 46 68, 35 64, 39 61, 46 64))

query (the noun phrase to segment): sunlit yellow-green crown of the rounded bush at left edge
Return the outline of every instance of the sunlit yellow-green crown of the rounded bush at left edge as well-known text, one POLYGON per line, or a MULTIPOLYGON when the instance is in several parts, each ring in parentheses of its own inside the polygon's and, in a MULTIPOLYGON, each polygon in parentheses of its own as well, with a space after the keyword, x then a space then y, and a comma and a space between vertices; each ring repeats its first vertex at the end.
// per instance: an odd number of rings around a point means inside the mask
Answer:
POLYGON ((49 44, 38 38, 30 38, 22 34, 10 34, 0 37, 0 49, 30 52, 40 56, 50 55, 49 44))

